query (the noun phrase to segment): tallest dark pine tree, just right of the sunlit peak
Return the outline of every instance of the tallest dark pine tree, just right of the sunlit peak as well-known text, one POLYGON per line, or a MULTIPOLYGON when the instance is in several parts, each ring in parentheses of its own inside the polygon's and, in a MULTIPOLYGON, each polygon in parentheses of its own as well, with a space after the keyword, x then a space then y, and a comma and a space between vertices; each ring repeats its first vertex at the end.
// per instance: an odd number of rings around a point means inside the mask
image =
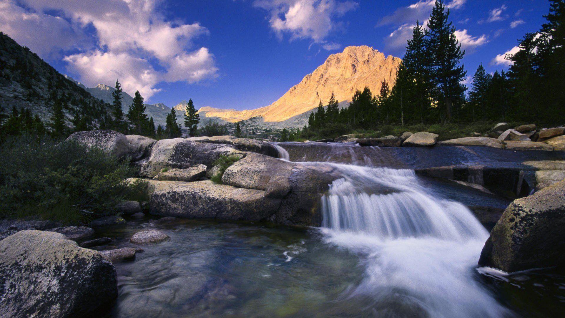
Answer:
POLYGON ((460 65, 465 51, 455 37, 455 27, 449 22, 449 9, 443 0, 436 0, 425 31, 425 48, 431 57, 431 80, 438 88, 438 99, 445 109, 445 120, 451 121, 454 105, 462 104, 464 85, 461 81, 467 74, 460 65))

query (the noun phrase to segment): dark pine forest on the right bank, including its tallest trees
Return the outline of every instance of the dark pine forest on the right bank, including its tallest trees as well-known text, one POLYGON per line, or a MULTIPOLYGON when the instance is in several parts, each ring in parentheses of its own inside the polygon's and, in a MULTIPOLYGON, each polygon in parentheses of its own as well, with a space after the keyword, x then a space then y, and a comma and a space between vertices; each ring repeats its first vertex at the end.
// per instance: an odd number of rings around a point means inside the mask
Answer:
POLYGON ((491 76, 479 65, 467 97, 462 84, 466 72, 460 63, 465 52, 455 38, 449 9, 436 1, 427 28, 416 22, 390 91, 386 82, 379 96, 368 88, 357 91, 349 106, 340 110, 332 94, 327 107, 320 102, 302 131, 288 132, 288 140, 421 130, 440 132, 446 139, 485 132, 486 123, 562 124, 565 2, 550 2, 547 23, 539 32, 525 35, 519 42, 521 50, 507 57, 514 63, 510 70, 491 76))

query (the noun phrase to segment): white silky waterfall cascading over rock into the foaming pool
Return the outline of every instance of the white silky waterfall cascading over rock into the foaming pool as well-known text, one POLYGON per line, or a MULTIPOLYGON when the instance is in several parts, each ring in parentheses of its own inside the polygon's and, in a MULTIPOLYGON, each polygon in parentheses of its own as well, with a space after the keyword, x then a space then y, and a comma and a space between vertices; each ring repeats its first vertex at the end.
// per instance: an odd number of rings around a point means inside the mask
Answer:
POLYGON ((346 296, 372 299, 377 316, 509 314, 476 279, 488 232, 464 205, 437 199, 414 170, 329 165, 344 178, 322 199, 321 231, 365 267, 346 296))

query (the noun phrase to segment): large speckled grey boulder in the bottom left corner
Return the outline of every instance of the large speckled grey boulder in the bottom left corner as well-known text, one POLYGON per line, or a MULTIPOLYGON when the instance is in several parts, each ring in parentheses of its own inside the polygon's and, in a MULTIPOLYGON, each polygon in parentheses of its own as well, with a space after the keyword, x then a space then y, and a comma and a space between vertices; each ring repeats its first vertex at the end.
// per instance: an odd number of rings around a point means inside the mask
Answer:
POLYGON ((89 316, 118 296, 106 257, 46 231, 0 241, 0 286, 2 317, 89 316))

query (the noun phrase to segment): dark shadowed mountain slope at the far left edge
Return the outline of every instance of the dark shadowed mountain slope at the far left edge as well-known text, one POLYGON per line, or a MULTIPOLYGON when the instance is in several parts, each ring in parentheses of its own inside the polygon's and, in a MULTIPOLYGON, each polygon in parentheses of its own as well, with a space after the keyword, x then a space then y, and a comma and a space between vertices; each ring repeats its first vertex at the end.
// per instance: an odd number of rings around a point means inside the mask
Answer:
POLYGON ((60 74, 28 48, 20 46, 0 32, 0 112, 8 113, 12 106, 27 108, 49 121, 56 99, 63 100, 67 120, 74 114, 102 118, 110 105, 93 97, 60 74))

